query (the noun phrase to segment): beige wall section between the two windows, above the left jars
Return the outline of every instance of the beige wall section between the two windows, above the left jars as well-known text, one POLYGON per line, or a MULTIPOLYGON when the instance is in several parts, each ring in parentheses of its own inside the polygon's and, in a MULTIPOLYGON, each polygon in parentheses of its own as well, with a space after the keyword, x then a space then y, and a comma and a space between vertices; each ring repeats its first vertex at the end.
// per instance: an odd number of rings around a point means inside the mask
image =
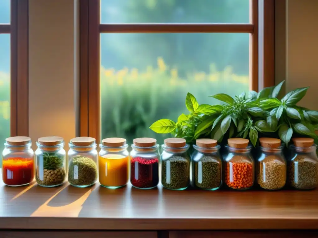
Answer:
POLYGON ((77 1, 29 2, 29 130, 41 136, 76 136, 78 103, 77 1))

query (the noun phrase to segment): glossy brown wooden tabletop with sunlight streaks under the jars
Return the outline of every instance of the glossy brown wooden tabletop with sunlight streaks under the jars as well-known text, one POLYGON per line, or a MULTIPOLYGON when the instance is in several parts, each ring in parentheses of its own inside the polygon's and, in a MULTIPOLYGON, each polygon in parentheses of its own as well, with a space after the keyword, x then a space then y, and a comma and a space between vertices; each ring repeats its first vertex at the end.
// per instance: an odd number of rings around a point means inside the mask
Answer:
POLYGON ((318 191, 111 190, 0 184, 6 229, 318 228, 318 191))

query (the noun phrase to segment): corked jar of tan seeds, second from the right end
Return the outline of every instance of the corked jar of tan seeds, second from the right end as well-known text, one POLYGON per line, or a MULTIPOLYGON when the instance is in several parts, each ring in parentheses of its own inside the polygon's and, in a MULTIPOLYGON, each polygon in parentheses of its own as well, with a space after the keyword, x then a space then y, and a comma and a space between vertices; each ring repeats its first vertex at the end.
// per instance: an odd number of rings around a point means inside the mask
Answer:
POLYGON ((261 144, 257 161, 257 182, 261 188, 277 190, 286 184, 287 163, 280 139, 259 138, 261 144))

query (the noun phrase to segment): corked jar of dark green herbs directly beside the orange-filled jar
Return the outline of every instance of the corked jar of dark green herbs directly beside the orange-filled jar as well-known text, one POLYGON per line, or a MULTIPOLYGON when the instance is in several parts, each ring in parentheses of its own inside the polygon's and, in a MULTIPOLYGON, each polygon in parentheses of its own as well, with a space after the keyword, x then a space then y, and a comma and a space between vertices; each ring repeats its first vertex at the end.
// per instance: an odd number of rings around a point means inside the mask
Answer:
POLYGON ((218 142, 212 139, 197 139, 193 148, 193 184, 197 188, 217 190, 222 185, 222 161, 218 142))

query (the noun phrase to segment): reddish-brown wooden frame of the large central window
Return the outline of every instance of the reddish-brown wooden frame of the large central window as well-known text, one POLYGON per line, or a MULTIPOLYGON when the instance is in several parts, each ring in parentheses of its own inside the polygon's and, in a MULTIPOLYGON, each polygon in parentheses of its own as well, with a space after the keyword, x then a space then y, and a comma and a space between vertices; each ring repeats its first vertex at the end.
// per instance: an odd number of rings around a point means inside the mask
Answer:
POLYGON ((79 1, 80 136, 100 142, 100 33, 250 33, 250 89, 258 91, 274 85, 275 0, 250 0, 248 24, 101 24, 100 0, 79 1))

